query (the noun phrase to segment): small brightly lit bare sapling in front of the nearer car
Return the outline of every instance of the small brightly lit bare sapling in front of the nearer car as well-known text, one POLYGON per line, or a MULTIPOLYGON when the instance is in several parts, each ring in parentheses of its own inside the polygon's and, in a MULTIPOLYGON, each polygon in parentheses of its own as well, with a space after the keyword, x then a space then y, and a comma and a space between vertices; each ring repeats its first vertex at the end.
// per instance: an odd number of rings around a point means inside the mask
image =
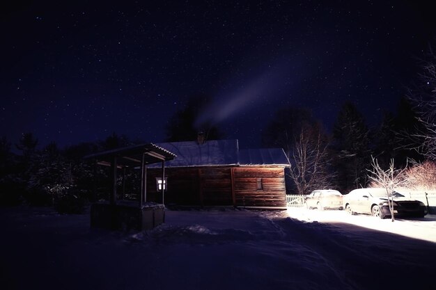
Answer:
POLYGON ((398 170, 394 168, 394 159, 391 159, 389 163, 389 168, 383 170, 377 159, 371 156, 372 163, 371 169, 368 169, 368 178, 372 180, 372 186, 382 187, 386 189, 387 200, 389 204, 389 211, 391 211, 391 220, 394 221, 394 200, 392 193, 394 193, 394 188, 398 188, 405 185, 405 168, 398 170))

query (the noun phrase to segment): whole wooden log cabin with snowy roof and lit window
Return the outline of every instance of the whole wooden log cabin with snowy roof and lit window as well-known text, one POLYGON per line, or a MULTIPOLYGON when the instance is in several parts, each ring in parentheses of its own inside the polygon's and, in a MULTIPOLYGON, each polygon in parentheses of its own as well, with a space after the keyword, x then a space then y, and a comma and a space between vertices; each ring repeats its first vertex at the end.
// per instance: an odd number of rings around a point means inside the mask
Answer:
MULTIPOLYGON (((159 143, 177 155, 165 163, 166 205, 286 207, 281 148, 240 150, 238 140, 159 143)), ((147 168, 147 200, 162 202, 162 171, 147 168)))

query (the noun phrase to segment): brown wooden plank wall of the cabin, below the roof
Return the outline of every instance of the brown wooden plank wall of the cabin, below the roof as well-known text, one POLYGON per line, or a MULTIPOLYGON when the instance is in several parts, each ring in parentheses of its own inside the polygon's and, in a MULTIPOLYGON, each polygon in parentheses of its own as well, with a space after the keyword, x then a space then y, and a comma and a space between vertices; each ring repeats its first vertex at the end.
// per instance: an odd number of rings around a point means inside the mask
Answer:
MULTIPOLYGON (((160 170, 148 170, 148 201, 162 200, 155 181, 161 174, 160 170)), ((166 168, 165 175, 169 186, 165 204, 286 207, 283 168, 166 168), (260 190, 257 189, 258 178, 262 178, 263 183, 260 190)))

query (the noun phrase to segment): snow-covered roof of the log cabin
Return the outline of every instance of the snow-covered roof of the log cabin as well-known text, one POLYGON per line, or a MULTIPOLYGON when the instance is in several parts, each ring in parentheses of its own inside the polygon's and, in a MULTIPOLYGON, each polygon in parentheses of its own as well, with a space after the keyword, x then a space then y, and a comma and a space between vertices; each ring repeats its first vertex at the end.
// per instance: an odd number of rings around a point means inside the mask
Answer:
MULTIPOLYGON (((288 166, 281 148, 240 150, 238 140, 208 140, 157 143, 177 157, 165 163, 166 167, 195 166, 288 166)), ((150 168, 159 167, 151 165, 150 168)))

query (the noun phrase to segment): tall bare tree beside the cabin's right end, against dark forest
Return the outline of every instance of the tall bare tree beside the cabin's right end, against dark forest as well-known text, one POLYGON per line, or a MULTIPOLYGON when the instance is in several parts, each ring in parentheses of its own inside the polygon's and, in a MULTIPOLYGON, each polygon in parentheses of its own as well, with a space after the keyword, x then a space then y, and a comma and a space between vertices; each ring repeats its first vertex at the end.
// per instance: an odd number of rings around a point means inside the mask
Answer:
POLYGON ((295 138, 290 178, 297 193, 304 195, 317 188, 332 186, 334 172, 329 168, 328 143, 320 127, 304 126, 295 138))

